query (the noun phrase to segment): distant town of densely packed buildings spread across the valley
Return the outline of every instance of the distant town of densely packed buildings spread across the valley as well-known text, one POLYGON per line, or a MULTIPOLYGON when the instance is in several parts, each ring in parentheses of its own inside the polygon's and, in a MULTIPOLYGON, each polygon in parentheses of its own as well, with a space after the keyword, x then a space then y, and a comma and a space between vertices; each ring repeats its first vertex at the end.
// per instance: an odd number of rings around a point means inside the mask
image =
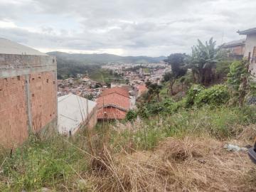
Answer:
POLYGON ((90 100, 96 100, 103 89, 125 87, 129 90, 129 95, 136 98, 141 95, 142 85, 145 85, 146 81, 160 84, 164 74, 171 71, 170 65, 164 62, 107 64, 102 65, 101 68, 116 74, 117 78, 114 78, 110 85, 92 80, 86 74, 77 74, 75 78, 57 80, 58 97, 73 93, 90 100))

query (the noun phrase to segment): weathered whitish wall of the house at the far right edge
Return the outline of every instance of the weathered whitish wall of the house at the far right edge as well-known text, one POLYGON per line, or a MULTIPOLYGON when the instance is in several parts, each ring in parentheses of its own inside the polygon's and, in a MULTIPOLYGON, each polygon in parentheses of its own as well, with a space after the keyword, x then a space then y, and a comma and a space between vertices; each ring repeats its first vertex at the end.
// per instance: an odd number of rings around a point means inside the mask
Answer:
POLYGON ((250 70, 253 75, 256 75, 256 58, 252 58, 253 49, 256 47, 256 33, 247 35, 246 42, 245 42, 245 58, 248 58, 250 53, 250 70))

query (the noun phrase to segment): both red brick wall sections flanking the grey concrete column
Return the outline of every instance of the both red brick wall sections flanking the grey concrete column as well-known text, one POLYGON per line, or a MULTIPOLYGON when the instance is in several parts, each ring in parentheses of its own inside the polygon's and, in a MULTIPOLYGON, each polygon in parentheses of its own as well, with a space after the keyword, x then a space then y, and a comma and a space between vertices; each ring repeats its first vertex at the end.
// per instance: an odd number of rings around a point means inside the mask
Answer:
MULTIPOLYGON (((55 72, 29 75, 32 129, 41 130, 57 116, 55 72)), ((26 76, 0 78, 0 145, 16 147, 28 138, 26 76)))

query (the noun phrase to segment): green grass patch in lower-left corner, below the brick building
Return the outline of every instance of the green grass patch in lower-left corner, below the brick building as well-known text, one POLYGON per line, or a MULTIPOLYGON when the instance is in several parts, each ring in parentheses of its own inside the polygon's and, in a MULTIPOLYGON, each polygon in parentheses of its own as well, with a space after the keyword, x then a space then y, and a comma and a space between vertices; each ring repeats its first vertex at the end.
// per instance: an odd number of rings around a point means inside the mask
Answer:
POLYGON ((2 151, 0 191, 34 191, 43 187, 79 190, 78 173, 87 170, 85 153, 77 148, 77 142, 64 137, 41 141, 31 136, 29 141, 16 149, 14 154, 2 151))

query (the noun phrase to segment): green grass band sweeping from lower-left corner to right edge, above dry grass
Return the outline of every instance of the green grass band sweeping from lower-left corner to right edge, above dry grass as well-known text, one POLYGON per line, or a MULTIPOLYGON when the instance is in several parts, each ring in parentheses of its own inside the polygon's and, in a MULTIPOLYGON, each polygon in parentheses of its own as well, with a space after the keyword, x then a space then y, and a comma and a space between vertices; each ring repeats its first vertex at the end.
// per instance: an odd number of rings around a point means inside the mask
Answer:
MULTIPOLYGON (((134 119, 134 112, 130 113, 134 119)), ((11 156, 7 151, 1 153, 0 191, 36 191, 43 187, 55 191, 100 191, 95 177, 104 178, 107 168, 97 159, 106 147, 114 155, 155 149, 167 137, 208 135, 220 140, 234 139, 245 126, 255 123, 255 107, 201 107, 156 115, 131 126, 127 124, 126 129, 107 124, 104 130, 98 127, 73 139, 56 136, 41 141, 31 137, 11 156), (102 174, 98 175, 98 171, 102 174)))

